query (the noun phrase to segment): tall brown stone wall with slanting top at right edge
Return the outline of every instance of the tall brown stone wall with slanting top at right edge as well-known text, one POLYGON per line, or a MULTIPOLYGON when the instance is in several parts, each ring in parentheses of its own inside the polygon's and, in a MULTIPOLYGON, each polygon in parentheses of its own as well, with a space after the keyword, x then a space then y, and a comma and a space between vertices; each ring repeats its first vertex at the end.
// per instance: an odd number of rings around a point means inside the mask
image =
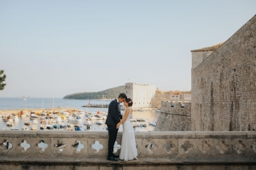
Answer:
POLYGON ((192 130, 256 129, 256 15, 192 68, 192 130))

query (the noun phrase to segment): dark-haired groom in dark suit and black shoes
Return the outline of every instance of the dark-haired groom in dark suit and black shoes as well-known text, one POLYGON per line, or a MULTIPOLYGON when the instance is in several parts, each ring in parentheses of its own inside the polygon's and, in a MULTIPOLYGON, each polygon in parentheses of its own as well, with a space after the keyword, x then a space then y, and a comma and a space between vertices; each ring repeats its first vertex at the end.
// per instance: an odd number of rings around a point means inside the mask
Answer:
POLYGON ((113 144, 116 140, 117 133, 119 129, 116 128, 116 125, 120 122, 122 118, 119 104, 123 103, 127 99, 126 94, 119 94, 118 99, 113 99, 108 106, 108 116, 106 124, 108 126, 108 160, 109 161, 118 161, 113 154, 113 144))

